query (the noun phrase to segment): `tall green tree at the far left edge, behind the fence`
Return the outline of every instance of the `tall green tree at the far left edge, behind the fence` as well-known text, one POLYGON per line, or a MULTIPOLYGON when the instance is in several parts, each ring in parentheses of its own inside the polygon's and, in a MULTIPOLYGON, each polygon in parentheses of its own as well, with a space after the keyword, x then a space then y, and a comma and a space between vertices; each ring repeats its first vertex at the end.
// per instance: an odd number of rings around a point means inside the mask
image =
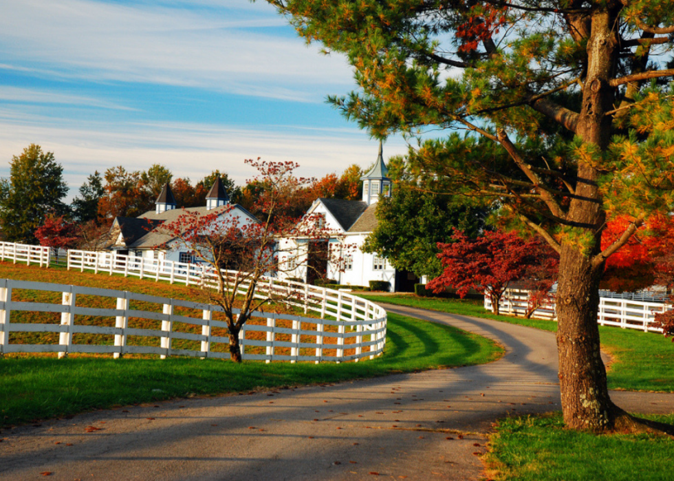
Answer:
POLYGON ((68 192, 63 167, 54 153, 31 144, 10 161, 9 182, 3 182, 0 224, 8 242, 36 244, 35 230, 47 213, 63 215, 68 206, 62 199, 68 192))

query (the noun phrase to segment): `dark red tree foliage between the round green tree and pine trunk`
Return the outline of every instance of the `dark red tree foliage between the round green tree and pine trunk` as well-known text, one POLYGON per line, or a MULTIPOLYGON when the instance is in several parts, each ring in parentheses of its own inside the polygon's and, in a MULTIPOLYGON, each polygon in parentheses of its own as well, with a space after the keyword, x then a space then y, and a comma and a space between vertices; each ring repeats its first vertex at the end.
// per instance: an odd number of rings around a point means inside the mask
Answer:
POLYGON ((437 244, 444 271, 427 286, 435 292, 450 287, 464 297, 472 288, 490 296, 494 312, 498 312, 499 299, 510 282, 525 281, 525 287, 534 290, 540 301, 556 278, 558 256, 539 239, 525 241, 502 231, 470 239, 455 231, 452 240, 451 244, 437 244))

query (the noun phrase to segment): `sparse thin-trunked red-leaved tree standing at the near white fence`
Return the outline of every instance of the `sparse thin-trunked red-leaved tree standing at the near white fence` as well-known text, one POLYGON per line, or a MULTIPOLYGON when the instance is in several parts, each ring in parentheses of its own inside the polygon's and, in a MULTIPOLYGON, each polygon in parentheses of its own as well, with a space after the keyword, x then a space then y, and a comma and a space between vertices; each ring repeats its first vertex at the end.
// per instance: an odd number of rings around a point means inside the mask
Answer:
MULTIPOLYGON (((299 189, 307 184, 307 180, 292 175, 297 164, 261 160, 246 162, 260 173, 259 178, 249 184, 262 186, 263 189, 254 209, 261 213, 257 222, 235 215, 237 209, 230 204, 206 214, 186 212, 175 222, 160 228, 170 239, 166 248, 188 249, 215 273, 215 290, 209 292, 209 299, 224 312, 230 355, 236 362, 241 362, 239 332, 252 312, 271 301, 297 301, 304 292, 287 288, 274 293, 257 288, 265 275, 272 272, 278 275, 283 270, 291 272, 307 262, 307 257, 296 254, 295 249, 284 253, 278 245, 281 239, 303 237, 305 242, 325 242, 331 235, 311 218, 289 215, 294 209, 287 189, 289 186, 299 189), (288 267, 288 255, 293 256, 292 268, 288 267), (279 256, 283 256, 285 261, 279 262, 279 256)), ((336 255, 328 251, 329 258, 325 261, 340 264, 336 255)))

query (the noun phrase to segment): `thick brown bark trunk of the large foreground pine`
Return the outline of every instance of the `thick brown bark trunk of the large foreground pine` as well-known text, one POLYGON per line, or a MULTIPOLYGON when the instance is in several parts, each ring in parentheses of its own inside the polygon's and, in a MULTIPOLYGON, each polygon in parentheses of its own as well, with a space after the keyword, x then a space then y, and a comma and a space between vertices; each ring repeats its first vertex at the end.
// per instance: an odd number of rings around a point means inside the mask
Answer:
POLYGON ((599 346, 597 311, 599 281, 604 264, 592 265, 600 252, 605 222, 598 188, 599 152, 608 149, 615 92, 609 85, 618 60, 615 25, 620 4, 609 0, 591 15, 587 42, 587 78, 583 87, 576 135, 583 139, 589 158, 579 156, 576 189, 567 220, 572 228, 561 242, 557 292, 557 348, 564 422, 572 429, 611 430, 618 413, 609 398, 606 369, 599 346), (590 153, 591 149, 597 153, 590 153))

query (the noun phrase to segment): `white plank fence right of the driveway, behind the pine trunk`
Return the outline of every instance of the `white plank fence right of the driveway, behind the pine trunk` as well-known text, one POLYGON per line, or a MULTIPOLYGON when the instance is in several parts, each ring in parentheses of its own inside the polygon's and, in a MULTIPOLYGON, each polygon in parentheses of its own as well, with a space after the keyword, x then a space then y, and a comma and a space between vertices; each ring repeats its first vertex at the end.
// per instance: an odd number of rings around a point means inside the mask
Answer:
MULTIPOLYGON (((665 300, 666 296, 658 292, 626 292, 617 293, 601 290, 599 292, 599 312, 597 322, 600 325, 615 325, 620 328, 639 329, 644 332, 662 332, 653 327, 655 314, 671 310, 665 300)), ((526 312, 529 292, 521 289, 507 289, 499 302, 499 310, 503 314, 523 316, 526 312)), ((484 308, 492 310, 492 302, 484 298, 484 308)), ((557 320, 554 302, 547 303, 534 311, 534 319, 557 320)))

